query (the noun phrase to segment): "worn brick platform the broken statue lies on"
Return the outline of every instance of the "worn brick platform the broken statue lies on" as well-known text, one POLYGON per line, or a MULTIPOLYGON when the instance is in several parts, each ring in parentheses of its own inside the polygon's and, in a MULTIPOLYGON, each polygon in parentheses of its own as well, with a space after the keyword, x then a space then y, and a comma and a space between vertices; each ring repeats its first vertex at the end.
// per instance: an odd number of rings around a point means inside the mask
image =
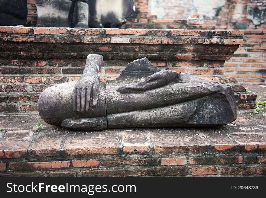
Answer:
POLYGON ((238 110, 235 122, 216 128, 79 132, 36 113, 7 113, 0 117, 0 176, 263 176, 265 115, 248 117, 238 110), (35 124, 45 129, 34 131, 35 124))

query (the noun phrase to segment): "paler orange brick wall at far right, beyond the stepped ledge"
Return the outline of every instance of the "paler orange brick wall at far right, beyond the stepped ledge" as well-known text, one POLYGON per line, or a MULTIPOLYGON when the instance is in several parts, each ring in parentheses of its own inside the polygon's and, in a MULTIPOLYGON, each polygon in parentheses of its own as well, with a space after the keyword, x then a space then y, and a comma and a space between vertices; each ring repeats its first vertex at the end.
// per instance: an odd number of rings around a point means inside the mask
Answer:
POLYGON ((266 84, 266 30, 244 30, 244 43, 225 62, 225 75, 241 85, 266 84))

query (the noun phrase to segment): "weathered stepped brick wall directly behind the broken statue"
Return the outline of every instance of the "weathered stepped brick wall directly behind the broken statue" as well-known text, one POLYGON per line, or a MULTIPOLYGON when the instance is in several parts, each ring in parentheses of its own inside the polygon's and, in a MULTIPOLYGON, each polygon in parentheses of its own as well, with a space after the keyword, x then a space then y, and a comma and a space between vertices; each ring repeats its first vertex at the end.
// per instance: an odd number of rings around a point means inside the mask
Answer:
POLYGON ((147 57, 161 69, 227 83, 236 93, 238 108, 252 108, 255 98, 241 100, 245 89, 223 76, 224 62, 242 37, 242 31, 2 26, 0 111, 36 111, 45 88, 79 79, 89 53, 104 57, 99 72, 103 82, 117 78, 129 62, 147 57))

